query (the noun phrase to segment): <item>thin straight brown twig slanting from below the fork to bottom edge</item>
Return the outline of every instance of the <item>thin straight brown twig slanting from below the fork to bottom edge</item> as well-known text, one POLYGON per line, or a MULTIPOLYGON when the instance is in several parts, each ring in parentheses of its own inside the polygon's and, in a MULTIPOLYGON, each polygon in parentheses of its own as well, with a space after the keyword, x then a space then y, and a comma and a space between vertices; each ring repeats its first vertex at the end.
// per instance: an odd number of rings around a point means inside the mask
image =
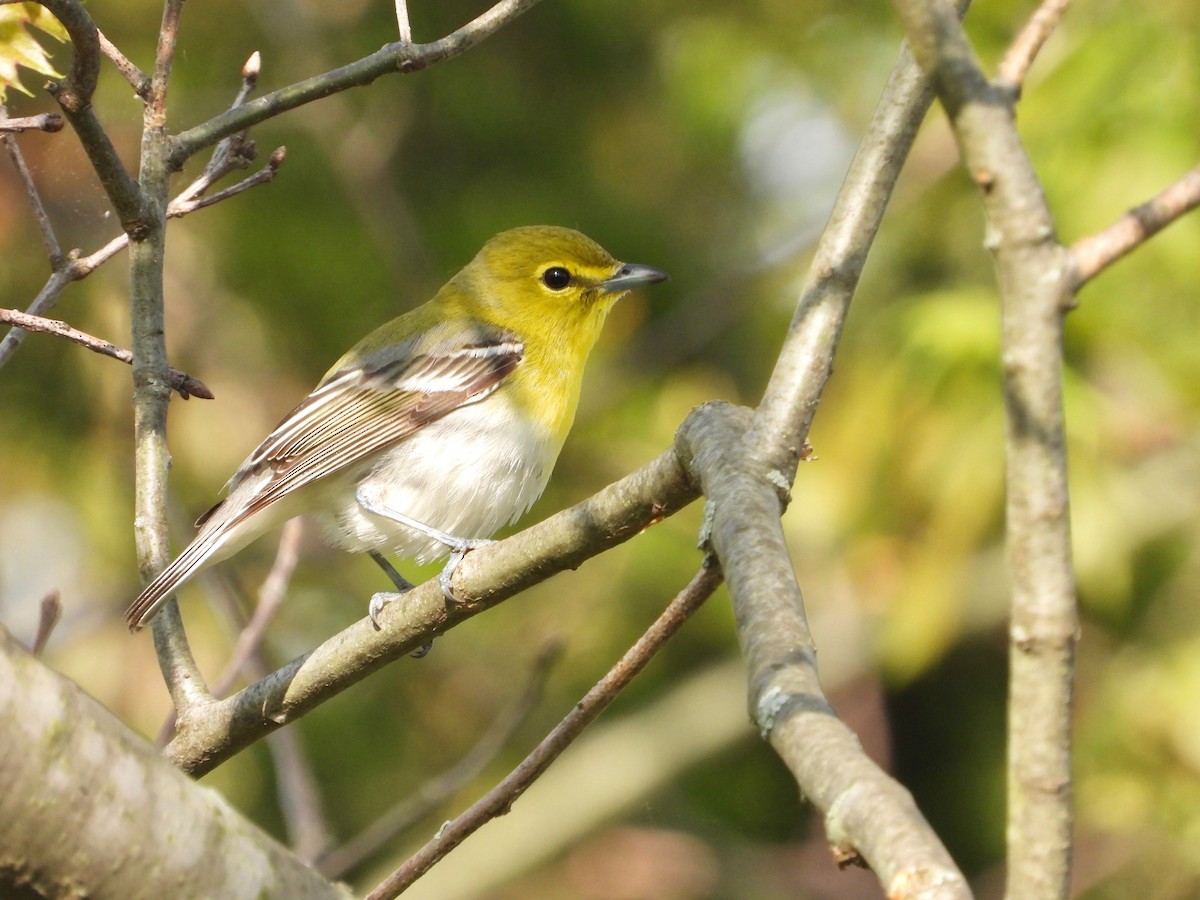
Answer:
POLYGON ((715 560, 704 565, 676 595, 662 614, 647 629, 625 655, 608 670, 571 712, 542 738, 541 743, 503 781, 472 804, 462 815, 446 822, 421 850, 409 857, 367 900, 384 900, 400 894, 446 853, 462 844, 482 824, 509 811, 546 768, 595 720, 617 695, 641 672, 655 653, 683 626, 721 583, 715 560))

